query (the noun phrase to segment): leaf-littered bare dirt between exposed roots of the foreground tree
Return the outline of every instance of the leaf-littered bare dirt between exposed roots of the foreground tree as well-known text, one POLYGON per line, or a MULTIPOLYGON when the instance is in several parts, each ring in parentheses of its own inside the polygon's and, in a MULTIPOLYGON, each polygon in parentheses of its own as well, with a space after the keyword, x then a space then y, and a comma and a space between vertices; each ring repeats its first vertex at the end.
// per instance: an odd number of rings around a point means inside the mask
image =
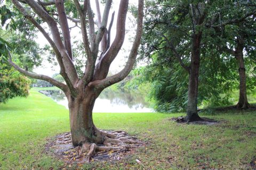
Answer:
MULTIPOLYGON (((113 133, 111 131, 104 132, 113 133)), ((146 142, 140 141, 137 137, 129 136, 124 131, 122 131, 122 137, 130 138, 135 141, 135 143, 118 143, 118 145, 114 146, 120 148, 118 150, 99 151, 91 158, 91 162, 117 161, 133 154, 137 148, 145 147, 147 145, 146 142)), ((81 147, 79 146, 75 148, 73 147, 70 132, 59 134, 54 137, 53 140, 49 139, 45 145, 45 152, 46 154, 61 159, 65 162, 65 166, 72 164, 77 164, 79 166, 86 162, 87 152, 82 153, 81 147)))

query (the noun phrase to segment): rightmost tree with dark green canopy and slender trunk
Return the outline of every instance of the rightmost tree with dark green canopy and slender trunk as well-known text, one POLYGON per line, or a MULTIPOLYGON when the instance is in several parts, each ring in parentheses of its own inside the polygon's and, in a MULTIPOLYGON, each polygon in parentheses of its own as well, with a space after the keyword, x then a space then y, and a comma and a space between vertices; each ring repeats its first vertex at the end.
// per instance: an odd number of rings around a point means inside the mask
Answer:
POLYGON ((255 47, 255 1, 227 2, 220 10, 218 25, 212 25, 219 41, 217 47, 226 57, 235 57, 239 73, 239 99, 237 108, 249 108, 246 90, 246 64, 244 60, 254 63, 255 47), (228 8, 228 10, 227 10, 228 8), (246 58, 245 58, 246 57, 246 58))

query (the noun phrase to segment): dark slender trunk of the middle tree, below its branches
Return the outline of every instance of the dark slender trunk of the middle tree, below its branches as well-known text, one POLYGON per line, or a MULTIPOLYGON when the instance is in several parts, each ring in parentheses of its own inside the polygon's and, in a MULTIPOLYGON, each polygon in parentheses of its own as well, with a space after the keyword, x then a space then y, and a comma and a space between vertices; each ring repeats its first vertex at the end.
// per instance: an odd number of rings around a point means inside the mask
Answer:
POLYGON ((197 114, 197 96, 198 96, 198 77, 200 66, 200 43, 201 33, 193 36, 193 46, 191 51, 191 62, 189 69, 188 84, 188 106, 186 120, 198 121, 201 118, 197 114))

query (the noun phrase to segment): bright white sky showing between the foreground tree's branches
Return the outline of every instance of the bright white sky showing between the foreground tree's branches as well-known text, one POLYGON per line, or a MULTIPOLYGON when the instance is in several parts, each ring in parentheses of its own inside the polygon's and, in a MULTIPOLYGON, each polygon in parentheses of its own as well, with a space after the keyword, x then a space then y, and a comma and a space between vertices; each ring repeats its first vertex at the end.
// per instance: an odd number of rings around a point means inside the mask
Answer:
MULTIPOLYGON (((131 5, 131 4, 138 5, 138 2, 133 0, 133 1, 129 2, 129 5, 131 5)), ((95 13, 95 1, 91 1, 91 7, 95 13)), ((110 22, 111 14, 115 11, 115 19, 113 22, 113 27, 111 29, 111 41, 114 40, 115 35, 116 35, 116 20, 117 20, 118 7, 119 7, 119 1, 113 1, 112 7, 109 12, 109 20, 108 20, 108 22, 110 22)), ((101 10, 101 15, 102 15, 103 10, 104 10, 103 4, 100 4, 100 10, 101 10)), ((134 25, 134 21, 135 21, 135 19, 133 18, 132 14, 128 12, 127 17, 126 17, 126 35, 125 35, 124 44, 121 48, 121 51, 118 53, 117 57, 115 58, 115 60, 113 61, 113 63, 110 66, 111 73, 117 73, 118 71, 121 71, 123 69, 123 66, 126 63, 126 58, 129 55, 129 51, 132 47, 131 38, 133 38, 135 36, 135 31, 136 31, 135 30, 136 25, 134 25)), ((73 25, 75 25, 75 24, 73 22, 69 21, 69 27, 72 27, 73 25)), ((97 29, 97 26, 95 25, 95 30, 96 29, 97 29)), ((71 35, 71 37, 73 37, 73 41, 77 40, 78 38, 82 38, 82 36, 79 34, 79 28, 77 28, 77 27, 71 29, 70 35, 71 35)), ((48 44, 47 40, 44 38, 44 36, 42 35, 41 32, 38 32, 38 38, 36 41, 40 47, 44 47, 46 44, 48 44)), ((47 56, 43 56, 43 58, 44 58, 44 60, 43 60, 42 66, 35 68, 34 72, 36 72, 38 74, 45 74, 48 76, 52 76, 54 73, 59 73, 58 65, 53 66, 52 64, 47 62, 47 60, 46 60, 47 56)))

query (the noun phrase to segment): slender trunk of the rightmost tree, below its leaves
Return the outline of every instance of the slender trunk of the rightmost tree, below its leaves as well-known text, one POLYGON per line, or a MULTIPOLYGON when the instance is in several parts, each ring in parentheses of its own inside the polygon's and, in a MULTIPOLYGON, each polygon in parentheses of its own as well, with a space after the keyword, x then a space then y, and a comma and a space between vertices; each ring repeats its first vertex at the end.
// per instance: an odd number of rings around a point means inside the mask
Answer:
POLYGON ((244 55, 243 55, 243 39, 238 38, 237 47, 235 49, 235 57, 238 62, 238 72, 239 72, 239 100, 237 103, 237 108, 249 108, 250 104, 247 100, 246 95, 246 73, 245 73, 245 65, 244 65, 244 55))

